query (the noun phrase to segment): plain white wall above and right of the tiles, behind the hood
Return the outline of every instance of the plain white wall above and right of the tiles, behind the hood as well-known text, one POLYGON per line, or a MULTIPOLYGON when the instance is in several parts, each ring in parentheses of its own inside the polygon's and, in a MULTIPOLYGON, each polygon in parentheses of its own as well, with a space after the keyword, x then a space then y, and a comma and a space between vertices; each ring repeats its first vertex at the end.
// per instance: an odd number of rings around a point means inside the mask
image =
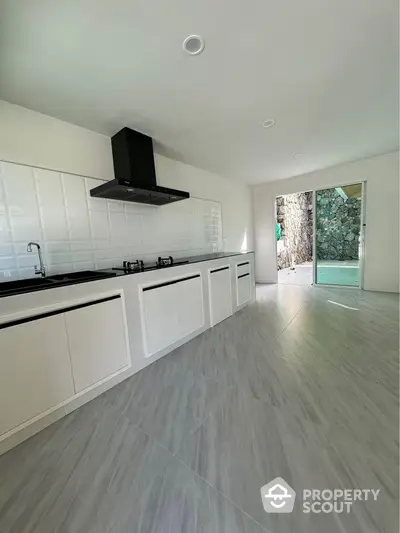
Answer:
MULTIPOLYGON (((4 101, 0 101, 0 160, 28 165, 35 172, 38 168, 56 171, 57 175, 63 174, 64 181, 73 174, 103 180, 114 177, 107 136, 4 101)), ((221 247, 225 251, 252 249, 252 196, 248 186, 158 154, 155 160, 160 185, 220 204, 221 247)), ((175 211, 172 205, 161 210, 164 216, 175 211)))

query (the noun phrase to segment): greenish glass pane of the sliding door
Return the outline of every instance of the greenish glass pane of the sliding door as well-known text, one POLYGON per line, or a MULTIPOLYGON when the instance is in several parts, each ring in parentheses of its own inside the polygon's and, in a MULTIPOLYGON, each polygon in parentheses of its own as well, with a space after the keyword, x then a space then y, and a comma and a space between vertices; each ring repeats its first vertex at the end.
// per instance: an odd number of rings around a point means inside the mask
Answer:
POLYGON ((358 287, 362 184, 323 189, 315 194, 315 282, 358 287))

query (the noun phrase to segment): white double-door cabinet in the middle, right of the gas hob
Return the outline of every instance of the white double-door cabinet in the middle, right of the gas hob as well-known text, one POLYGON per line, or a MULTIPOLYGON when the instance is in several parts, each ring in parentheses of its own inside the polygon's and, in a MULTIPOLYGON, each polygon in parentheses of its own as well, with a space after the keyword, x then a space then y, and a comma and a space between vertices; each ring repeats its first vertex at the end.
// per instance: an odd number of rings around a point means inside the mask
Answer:
POLYGON ((200 274, 142 287, 141 314, 146 357, 204 325, 200 274))

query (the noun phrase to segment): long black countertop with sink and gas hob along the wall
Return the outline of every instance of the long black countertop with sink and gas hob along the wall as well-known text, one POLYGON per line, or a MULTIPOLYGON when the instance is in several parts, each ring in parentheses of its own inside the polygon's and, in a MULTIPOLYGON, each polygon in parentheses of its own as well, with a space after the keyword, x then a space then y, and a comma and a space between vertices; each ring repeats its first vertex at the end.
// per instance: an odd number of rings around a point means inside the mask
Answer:
MULTIPOLYGON (((101 270, 93 270, 94 272, 92 279, 79 279, 77 277, 78 273, 74 272, 75 279, 52 279, 52 276, 48 276, 44 280, 41 280, 40 278, 32 278, 32 280, 21 280, 21 283, 23 286, 18 286, 18 281, 11 281, 11 282, 0 282, 0 298, 4 298, 6 296, 15 296, 17 294, 25 294, 28 292, 36 292, 36 291, 43 291, 47 289, 56 289, 58 287, 65 287, 67 285, 77 285, 80 283, 89 283, 90 281, 98 281, 102 279, 108 279, 108 278, 116 278, 119 276, 130 276, 133 274, 142 274, 143 272, 152 272, 154 270, 164 270, 168 268, 174 268, 178 266, 185 266, 185 265, 191 265, 194 263, 202 263, 204 261, 213 261, 214 259, 223 259, 224 257, 232 257, 235 255, 246 255, 254 253, 252 251, 249 252, 218 252, 213 254, 203 254, 203 255, 194 255, 190 257, 180 257, 178 259, 175 259, 175 263, 172 265, 166 265, 163 267, 157 267, 155 266, 155 261, 153 263, 147 263, 144 265, 144 270, 137 270, 137 271, 127 271, 121 269, 113 269, 113 268, 107 268, 107 269, 101 269, 101 270), (32 285, 29 285, 29 281, 32 281, 32 285)), ((68 276, 68 274, 65 274, 68 276)), ((56 278, 61 278, 60 274, 55 276, 56 278)))

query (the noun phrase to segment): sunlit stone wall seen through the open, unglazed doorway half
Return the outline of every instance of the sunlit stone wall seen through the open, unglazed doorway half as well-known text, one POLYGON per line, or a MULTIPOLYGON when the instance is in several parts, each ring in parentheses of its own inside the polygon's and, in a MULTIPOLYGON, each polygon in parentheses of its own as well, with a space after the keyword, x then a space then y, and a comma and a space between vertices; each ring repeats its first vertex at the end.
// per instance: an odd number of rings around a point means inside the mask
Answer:
POLYGON ((276 199, 281 239, 277 246, 278 268, 312 261, 312 193, 296 193, 276 199))

